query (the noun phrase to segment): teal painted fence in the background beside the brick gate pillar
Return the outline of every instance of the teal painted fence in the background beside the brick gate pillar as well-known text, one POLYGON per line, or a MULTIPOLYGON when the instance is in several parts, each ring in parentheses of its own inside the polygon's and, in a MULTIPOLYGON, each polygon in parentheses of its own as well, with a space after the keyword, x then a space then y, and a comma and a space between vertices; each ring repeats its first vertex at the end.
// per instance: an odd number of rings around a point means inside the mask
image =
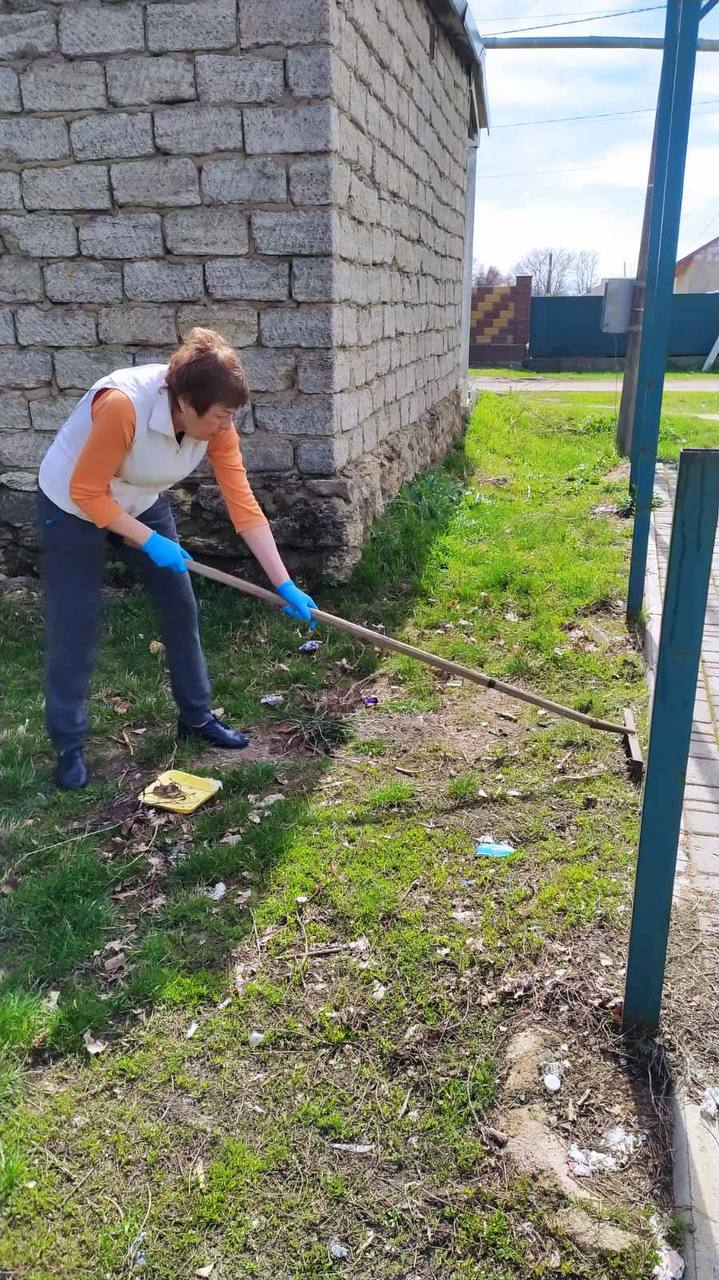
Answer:
MULTIPOLYGON (((530 357, 587 358, 627 353, 623 334, 601 332, 603 298, 532 298, 530 357), (614 346, 617 343, 617 346, 614 346)), ((706 356, 719 334, 719 293, 674 293, 669 356, 706 356)))

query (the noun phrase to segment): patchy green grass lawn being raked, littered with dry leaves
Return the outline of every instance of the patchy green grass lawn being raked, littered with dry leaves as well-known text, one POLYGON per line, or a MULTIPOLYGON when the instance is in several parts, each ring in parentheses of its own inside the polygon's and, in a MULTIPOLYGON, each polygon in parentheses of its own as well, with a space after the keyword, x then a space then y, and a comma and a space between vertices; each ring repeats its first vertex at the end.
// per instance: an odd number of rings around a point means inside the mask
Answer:
MULTIPOLYGON (((642 714, 629 525, 595 513, 615 463, 609 415, 485 396, 463 451, 403 490, 321 603, 642 714)), ((59 795, 37 605, 0 613, 0 1270, 649 1277, 668 1169, 645 1047, 613 1014, 638 819, 617 742, 340 635, 308 658, 285 618, 205 586, 216 704, 256 745, 193 758, 146 603, 114 594, 93 782, 59 795), (134 804, 170 760, 223 780, 193 819, 134 804), (487 836, 516 852, 477 858, 487 836), (650 1135, 592 1181, 594 1212, 636 1233, 603 1256, 496 1140, 508 1042, 537 1023, 569 1064, 541 1098, 563 1151, 608 1119, 650 1135)))

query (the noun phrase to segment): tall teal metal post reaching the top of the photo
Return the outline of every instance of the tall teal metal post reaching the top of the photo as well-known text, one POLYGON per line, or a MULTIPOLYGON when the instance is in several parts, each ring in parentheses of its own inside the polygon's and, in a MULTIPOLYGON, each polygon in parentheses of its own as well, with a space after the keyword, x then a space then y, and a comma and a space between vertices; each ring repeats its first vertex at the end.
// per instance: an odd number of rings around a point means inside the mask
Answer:
POLYGON ((636 513, 627 596, 629 621, 638 618, 644 603, 699 23, 697 0, 669 0, 656 109, 656 170, 651 201, 637 399, 632 426, 629 485, 636 513))

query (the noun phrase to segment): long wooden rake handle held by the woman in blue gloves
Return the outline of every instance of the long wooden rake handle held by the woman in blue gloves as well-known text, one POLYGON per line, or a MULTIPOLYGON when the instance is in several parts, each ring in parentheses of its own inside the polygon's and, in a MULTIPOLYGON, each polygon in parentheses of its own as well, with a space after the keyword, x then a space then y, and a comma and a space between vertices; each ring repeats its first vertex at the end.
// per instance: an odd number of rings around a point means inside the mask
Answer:
MULTIPOLYGON (((267 591, 264 586, 255 586, 253 582, 247 582, 243 577, 234 577, 233 573, 225 573, 221 568, 212 568, 210 564, 198 564, 197 561, 188 561, 187 567, 200 577, 210 577, 214 582, 233 586, 235 591, 255 595, 258 600, 266 600, 267 604, 284 607, 287 603, 275 591, 267 591)), ((322 609, 311 609, 310 612, 317 622, 324 622, 328 627, 335 627, 338 631, 347 631, 348 635, 356 636, 357 640, 363 640, 365 644, 375 645, 377 649, 391 649, 394 653, 406 653, 408 658, 416 658, 417 662, 423 662, 427 667, 438 667, 439 671, 446 671, 452 676, 461 676, 462 680, 471 680, 472 684, 482 685, 485 689, 496 689, 500 694, 507 694, 508 698, 516 698, 522 703, 531 703, 532 707, 541 707, 554 716, 562 716, 564 719, 576 721, 578 724, 587 724, 589 728, 601 730, 605 733, 619 733, 622 737, 627 737, 628 730, 626 724, 614 724, 612 721, 585 716, 583 712, 576 712, 572 707, 563 707, 562 703, 553 703, 549 698, 530 694, 525 689, 518 689, 517 685, 508 685, 504 680, 485 676, 484 672, 475 671, 472 667, 463 667, 458 662, 450 662, 449 658, 439 658, 435 653, 427 653, 426 649, 417 649, 412 644, 404 644, 403 640, 394 640, 393 636, 381 635, 380 631, 371 631, 370 627, 361 627, 357 622, 336 618, 334 613, 325 613, 322 609)))

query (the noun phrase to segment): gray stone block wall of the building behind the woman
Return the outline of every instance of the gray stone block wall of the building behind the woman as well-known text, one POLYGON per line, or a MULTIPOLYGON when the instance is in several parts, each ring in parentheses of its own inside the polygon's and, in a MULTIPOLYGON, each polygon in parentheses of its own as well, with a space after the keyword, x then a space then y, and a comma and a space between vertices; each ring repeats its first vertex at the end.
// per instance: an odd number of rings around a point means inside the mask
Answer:
MULTIPOLYGON (((288 563, 343 575, 459 430, 467 69, 429 0, 0 0, 0 570, 87 387, 196 324, 288 563)), ((211 476, 196 554, 242 544, 211 476)))

